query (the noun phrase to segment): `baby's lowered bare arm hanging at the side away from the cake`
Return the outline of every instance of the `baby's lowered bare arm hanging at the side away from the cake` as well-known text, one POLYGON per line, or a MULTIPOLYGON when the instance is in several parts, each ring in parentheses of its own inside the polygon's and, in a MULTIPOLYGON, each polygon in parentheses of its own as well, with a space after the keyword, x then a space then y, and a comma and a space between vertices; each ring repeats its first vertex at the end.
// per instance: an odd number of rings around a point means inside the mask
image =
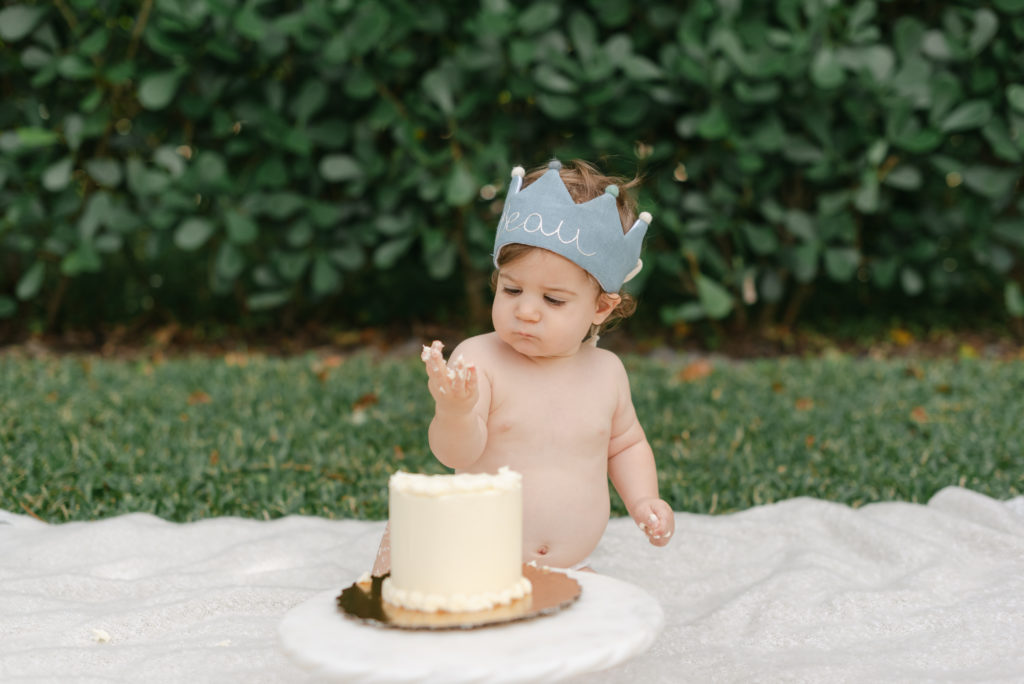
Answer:
POLYGON ((676 516, 658 497, 654 453, 637 420, 625 369, 618 382, 620 400, 608 443, 608 475, 630 516, 650 543, 665 546, 676 530, 676 516))

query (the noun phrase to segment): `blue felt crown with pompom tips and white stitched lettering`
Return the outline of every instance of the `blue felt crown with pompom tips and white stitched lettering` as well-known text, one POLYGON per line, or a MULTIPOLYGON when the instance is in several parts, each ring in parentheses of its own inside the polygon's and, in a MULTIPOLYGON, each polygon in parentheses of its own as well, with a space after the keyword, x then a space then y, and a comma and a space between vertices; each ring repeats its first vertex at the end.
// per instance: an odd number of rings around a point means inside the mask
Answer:
POLYGON ((560 162, 552 161, 548 170, 526 188, 522 188, 522 167, 512 169, 512 182, 495 234, 495 266, 506 245, 541 247, 586 270, 605 292, 618 292, 643 265, 640 248, 651 216, 641 213, 629 232, 623 234, 615 206, 618 187, 608 185, 600 197, 577 204, 562 182, 561 167, 560 162))

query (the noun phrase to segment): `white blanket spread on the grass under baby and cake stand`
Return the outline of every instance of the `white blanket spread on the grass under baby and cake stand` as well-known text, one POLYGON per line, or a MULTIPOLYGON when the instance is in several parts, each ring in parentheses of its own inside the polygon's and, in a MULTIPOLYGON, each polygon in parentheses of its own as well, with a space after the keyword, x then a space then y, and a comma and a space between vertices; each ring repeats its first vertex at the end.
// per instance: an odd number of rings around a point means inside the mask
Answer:
MULTIPOLYGON (((676 525, 655 549, 611 520, 595 568, 651 593, 666 626, 588 681, 1024 681, 1024 498, 796 499, 676 525)), ((304 681, 279 623, 367 569, 382 528, 0 511, 0 681, 304 681)))

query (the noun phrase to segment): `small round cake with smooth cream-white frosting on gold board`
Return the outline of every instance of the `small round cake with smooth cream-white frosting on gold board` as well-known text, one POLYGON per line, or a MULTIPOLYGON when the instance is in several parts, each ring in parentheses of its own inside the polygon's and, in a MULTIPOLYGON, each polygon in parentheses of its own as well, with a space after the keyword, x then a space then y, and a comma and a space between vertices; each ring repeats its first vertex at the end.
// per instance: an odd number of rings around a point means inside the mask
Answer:
POLYGON ((436 612, 486 610, 530 593, 522 576, 522 475, 419 475, 388 484, 387 603, 436 612))

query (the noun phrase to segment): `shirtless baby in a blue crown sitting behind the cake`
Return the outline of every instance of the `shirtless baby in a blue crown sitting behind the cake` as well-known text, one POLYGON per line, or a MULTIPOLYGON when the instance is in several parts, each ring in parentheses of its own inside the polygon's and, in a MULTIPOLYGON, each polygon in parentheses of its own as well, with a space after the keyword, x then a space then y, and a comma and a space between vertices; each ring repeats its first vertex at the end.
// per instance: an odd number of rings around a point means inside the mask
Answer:
MULTIPOLYGON (((608 522, 610 476, 651 544, 675 530, 629 379, 597 333, 632 313, 618 292, 640 269, 650 215, 615 180, 575 162, 512 185, 495 240, 494 332, 441 355, 424 347, 430 447, 457 472, 523 478, 523 561, 584 568, 608 522), (468 359, 468 360, 467 360, 468 359)), ((387 539, 374 574, 388 570, 387 539)))

